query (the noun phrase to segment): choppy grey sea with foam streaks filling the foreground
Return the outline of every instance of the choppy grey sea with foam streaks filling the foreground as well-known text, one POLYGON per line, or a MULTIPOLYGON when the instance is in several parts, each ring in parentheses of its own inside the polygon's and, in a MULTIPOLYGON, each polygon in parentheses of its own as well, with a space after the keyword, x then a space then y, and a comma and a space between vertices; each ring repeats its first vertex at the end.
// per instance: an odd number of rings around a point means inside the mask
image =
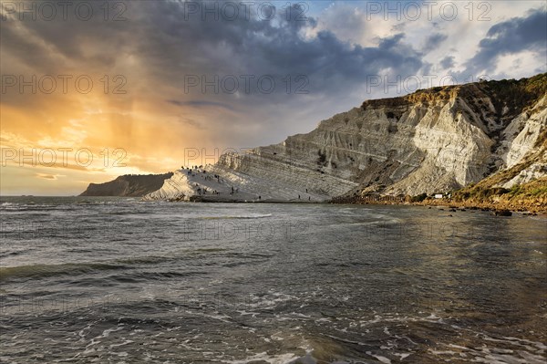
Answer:
POLYGON ((2 198, 0 361, 545 363, 547 220, 2 198))

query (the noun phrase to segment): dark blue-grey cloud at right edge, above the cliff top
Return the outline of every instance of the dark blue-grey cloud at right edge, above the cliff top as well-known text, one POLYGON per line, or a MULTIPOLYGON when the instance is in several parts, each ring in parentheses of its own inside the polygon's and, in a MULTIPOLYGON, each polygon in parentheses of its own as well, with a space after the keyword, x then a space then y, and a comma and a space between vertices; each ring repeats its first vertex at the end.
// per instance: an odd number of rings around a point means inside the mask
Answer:
POLYGON ((542 57, 547 52, 547 12, 536 9, 526 17, 513 17, 491 26, 485 38, 480 40, 480 50, 466 66, 470 74, 491 71, 497 59, 503 55, 532 51, 542 57))

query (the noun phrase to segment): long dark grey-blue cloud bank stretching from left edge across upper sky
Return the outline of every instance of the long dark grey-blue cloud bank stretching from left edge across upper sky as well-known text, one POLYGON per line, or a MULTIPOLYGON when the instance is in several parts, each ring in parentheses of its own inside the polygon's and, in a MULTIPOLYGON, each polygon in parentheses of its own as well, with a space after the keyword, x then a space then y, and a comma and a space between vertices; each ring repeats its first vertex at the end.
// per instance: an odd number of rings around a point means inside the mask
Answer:
MULTIPOLYGON (((281 8, 273 21, 253 15, 232 21, 206 16, 203 21, 181 2, 125 3, 126 20, 119 22, 103 21, 99 7, 90 21, 3 22, 3 51, 46 73, 105 71, 135 57, 144 72, 139 76, 152 88, 158 84, 182 89, 187 75, 304 75, 312 95, 350 92, 363 87, 367 76, 386 73, 387 68, 404 77, 422 67, 421 55, 403 43, 402 33, 381 39, 378 47, 354 47, 330 31, 305 37, 304 29, 314 28, 315 19, 287 19, 281 8)), ((274 99, 286 93, 284 87, 274 91, 248 96, 274 99)))

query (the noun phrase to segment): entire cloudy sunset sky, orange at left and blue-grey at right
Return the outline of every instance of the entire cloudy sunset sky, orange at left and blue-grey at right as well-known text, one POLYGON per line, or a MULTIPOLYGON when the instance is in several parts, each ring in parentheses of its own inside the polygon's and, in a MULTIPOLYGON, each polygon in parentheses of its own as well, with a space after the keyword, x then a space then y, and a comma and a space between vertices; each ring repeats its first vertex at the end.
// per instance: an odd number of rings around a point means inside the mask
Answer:
POLYGON ((544 1, 0 2, 1 195, 214 162, 366 99, 547 71, 544 1))

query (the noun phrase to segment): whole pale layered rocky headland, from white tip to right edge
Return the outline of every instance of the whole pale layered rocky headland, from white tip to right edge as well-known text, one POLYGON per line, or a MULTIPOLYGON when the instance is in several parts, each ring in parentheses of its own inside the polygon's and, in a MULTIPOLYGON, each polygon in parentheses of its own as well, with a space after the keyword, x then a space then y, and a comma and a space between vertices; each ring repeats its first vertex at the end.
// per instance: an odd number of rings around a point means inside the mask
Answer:
POLYGON ((390 199, 544 211, 546 127, 547 74, 429 88, 366 100, 309 133, 222 154, 214 165, 175 171, 144 199, 390 199), (530 193, 523 192, 528 187, 518 190, 530 182, 536 186, 530 193), (436 194, 443 198, 435 199, 436 194))

